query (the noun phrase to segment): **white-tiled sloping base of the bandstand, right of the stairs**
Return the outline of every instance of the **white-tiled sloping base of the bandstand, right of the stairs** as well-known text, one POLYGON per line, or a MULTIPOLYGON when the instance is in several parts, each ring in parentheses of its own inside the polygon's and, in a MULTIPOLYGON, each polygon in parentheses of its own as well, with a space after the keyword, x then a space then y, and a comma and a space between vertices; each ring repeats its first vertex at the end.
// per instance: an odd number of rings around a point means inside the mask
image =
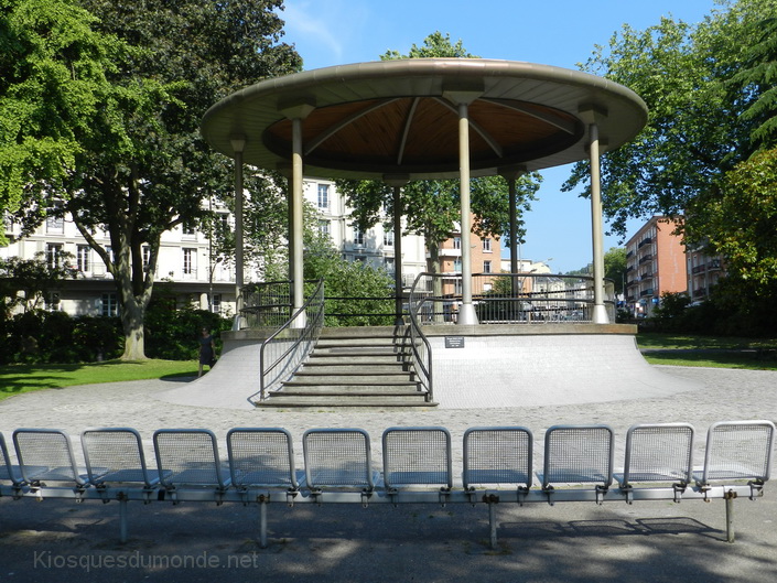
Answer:
POLYGON ((632 335, 466 336, 464 348, 430 342, 434 399, 446 409, 654 399, 702 388, 649 365, 632 335))

